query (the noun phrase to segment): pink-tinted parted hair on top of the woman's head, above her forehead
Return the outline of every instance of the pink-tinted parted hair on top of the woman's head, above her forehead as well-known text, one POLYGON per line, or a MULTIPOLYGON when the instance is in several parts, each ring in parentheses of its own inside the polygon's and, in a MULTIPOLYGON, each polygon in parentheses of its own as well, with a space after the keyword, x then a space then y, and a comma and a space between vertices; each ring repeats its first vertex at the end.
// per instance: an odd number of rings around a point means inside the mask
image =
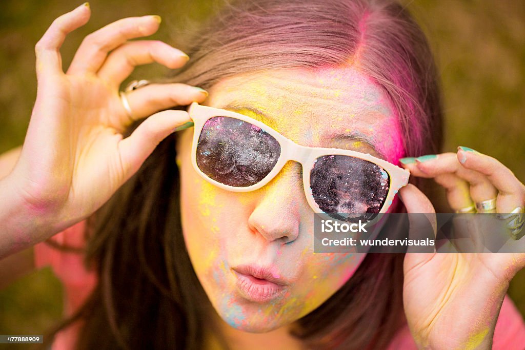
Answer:
POLYGON ((191 60, 170 80, 205 89, 239 73, 353 65, 386 92, 406 155, 442 146, 434 59, 422 30, 396 2, 238 2, 179 45, 191 60))

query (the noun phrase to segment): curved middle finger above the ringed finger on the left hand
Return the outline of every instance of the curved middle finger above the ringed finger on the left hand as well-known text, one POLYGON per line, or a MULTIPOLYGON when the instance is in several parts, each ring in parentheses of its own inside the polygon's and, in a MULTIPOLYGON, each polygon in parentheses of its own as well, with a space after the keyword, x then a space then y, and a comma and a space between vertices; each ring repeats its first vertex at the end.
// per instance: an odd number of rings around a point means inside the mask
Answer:
POLYGON ((181 50, 162 41, 130 41, 111 52, 98 71, 98 75, 119 87, 136 66, 158 62, 167 68, 175 69, 184 66, 189 58, 181 50))

